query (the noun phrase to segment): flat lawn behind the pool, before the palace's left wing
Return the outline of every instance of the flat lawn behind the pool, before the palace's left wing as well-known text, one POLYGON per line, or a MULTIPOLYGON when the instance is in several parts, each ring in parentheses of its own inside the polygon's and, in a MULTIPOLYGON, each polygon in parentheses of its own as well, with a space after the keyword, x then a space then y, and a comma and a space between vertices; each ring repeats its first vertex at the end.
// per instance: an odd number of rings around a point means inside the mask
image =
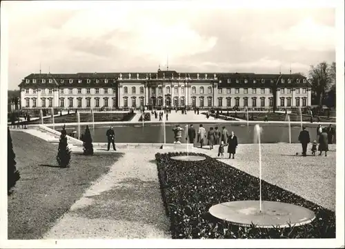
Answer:
MULTIPOLYGON (((112 122, 112 121, 130 121, 135 117, 135 113, 128 112, 95 112, 95 122, 112 122)), ((70 113, 62 116, 57 116, 54 119, 55 123, 77 123, 77 114, 70 113)), ((81 122, 92 122, 91 113, 80 113, 81 122)), ((52 123, 52 118, 43 119, 43 123, 52 123)), ((36 119, 28 122, 28 124, 41 124, 41 119, 36 119)))

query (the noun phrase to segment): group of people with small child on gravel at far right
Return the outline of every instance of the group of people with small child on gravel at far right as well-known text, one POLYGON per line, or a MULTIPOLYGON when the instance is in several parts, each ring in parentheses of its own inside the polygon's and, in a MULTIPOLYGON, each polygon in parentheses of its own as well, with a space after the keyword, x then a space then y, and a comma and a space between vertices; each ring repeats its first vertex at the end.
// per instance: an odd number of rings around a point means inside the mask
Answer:
MULTIPOLYGON (((312 155, 315 156, 316 152, 319 151, 319 156, 321 156, 322 152, 324 152, 325 157, 327 157, 328 144, 333 143, 335 129, 333 128, 331 124, 327 128, 319 125, 317 126, 316 135, 317 135, 317 139, 313 141, 312 147, 311 147, 312 155)), ((311 142, 311 137, 309 135, 308 130, 306 130, 306 127, 303 127, 302 131, 299 132, 298 140, 302 144, 302 156, 306 157, 306 150, 308 147, 308 143, 311 142)))

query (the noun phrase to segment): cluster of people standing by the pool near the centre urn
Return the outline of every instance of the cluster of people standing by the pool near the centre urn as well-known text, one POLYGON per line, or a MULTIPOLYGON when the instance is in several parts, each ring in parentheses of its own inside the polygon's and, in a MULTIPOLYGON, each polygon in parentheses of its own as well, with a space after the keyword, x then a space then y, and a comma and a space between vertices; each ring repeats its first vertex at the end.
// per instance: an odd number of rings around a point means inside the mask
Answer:
POLYGON ((213 146, 219 146, 218 157, 221 156, 221 158, 224 157, 224 147, 228 146, 229 158, 233 155, 232 158, 235 159, 236 148, 238 146, 237 137, 233 131, 231 131, 229 135, 225 126, 223 126, 221 130, 219 130, 218 127, 210 127, 210 130, 206 132, 204 126, 200 124, 199 129, 196 132, 193 124, 191 124, 186 136, 186 140, 188 139, 189 143, 193 143, 193 145, 195 144, 195 139, 197 139, 197 143, 200 143, 200 148, 203 148, 204 142, 206 142, 207 139, 210 150, 213 149, 213 146))

